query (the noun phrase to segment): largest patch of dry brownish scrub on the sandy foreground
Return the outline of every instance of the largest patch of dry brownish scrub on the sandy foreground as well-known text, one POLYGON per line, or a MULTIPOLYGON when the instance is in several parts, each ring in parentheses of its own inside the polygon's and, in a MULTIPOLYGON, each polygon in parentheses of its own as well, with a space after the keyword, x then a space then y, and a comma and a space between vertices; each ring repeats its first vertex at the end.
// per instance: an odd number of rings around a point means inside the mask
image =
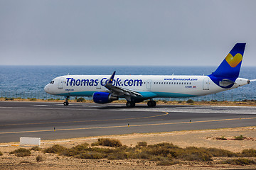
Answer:
MULTIPOLYGON (((99 138, 92 146, 94 147, 83 143, 82 145, 67 149, 60 145, 53 145, 53 147, 45 149, 44 152, 79 159, 145 159, 157 162, 158 165, 178 164, 179 160, 211 162, 213 161, 213 157, 256 157, 255 149, 245 149, 241 153, 234 153, 225 149, 216 148, 186 147, 184 149, 166 142, 156 145, 147 145, 146 142, 138 142, 136 147, 127 147, 122 146, 119 140, 107 138, 99 138), (107 147, 95 147, 99 145, 107 147)), ((225 164, 236 164, 232 162, 242 162, 241 160, 243 159, 232 160, 225 162, 225 164)), ((246 164, 246 162, 240 164, 246 164)))

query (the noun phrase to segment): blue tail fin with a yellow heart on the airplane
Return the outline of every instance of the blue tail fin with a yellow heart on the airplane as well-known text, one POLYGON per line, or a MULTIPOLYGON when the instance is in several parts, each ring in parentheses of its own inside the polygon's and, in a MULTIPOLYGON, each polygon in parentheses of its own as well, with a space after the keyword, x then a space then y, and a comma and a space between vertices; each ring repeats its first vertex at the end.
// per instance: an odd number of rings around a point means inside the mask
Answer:
POLYGON ((235 81, 238 78, 242 64, 242 56, 245 51, 245 43, 237 43, 228 53, 220 66, 210 74, 213 77, 221 77, 235 81))

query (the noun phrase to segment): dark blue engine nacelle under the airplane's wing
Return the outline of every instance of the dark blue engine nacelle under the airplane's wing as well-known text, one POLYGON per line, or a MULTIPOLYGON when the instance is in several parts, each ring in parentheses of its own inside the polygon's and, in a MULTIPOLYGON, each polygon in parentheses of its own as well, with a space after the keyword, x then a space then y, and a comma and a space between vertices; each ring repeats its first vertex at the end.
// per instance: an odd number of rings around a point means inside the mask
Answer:
POLYGON ((117 96, 112 96, 107 92, 95 92, 92 95, 92 98, 95 103, 110 103, 112 101, 118 100, 117 96))

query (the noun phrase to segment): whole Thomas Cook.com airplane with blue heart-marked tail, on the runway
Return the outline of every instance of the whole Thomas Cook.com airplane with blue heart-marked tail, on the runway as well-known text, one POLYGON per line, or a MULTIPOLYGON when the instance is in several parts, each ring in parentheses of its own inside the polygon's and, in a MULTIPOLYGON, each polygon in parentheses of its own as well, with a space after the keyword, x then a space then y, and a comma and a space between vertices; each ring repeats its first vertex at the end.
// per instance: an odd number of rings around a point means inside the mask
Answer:
POLYGON ((245 43, 237 43, 223 62, 208 76, 176 75, 65 75, 56 77, 44 90, 48 94, 65 96, 68 106, 70 96, 92 96, 95 103, 111 103, 119 98, 127 100, 126 106, 149 100, 147 106, 155 107, 154 98, 188 98, 215 94, 250 84, 239 78, 245 43))

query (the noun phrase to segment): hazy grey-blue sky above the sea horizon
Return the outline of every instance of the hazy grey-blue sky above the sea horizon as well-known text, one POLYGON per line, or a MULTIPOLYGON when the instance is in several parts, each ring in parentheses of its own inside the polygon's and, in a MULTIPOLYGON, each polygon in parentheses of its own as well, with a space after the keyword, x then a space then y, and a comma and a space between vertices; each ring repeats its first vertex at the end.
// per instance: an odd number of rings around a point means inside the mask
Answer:
POLYGON ((0 0, 1 65, 218 65, 247 42, 256 1, 0 0))

